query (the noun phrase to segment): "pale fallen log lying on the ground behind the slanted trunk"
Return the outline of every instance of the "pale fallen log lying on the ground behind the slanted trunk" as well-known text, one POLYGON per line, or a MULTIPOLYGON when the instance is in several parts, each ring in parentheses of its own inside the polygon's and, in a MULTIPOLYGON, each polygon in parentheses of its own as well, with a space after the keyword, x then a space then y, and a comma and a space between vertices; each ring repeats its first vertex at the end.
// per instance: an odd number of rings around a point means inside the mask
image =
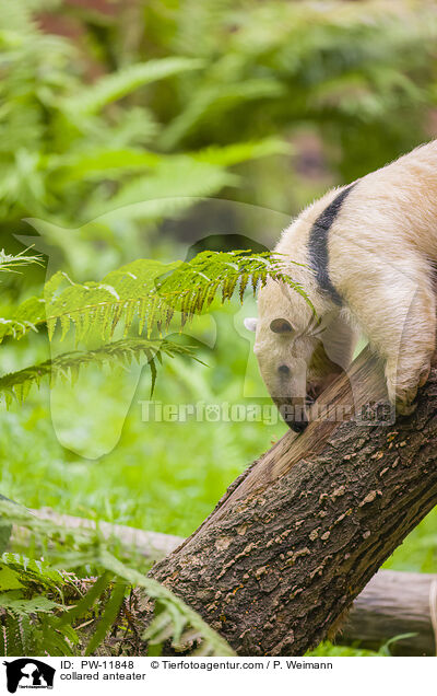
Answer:
MULTIPOLYGON (((94 520, 60 514, 51 508, 32 510, 32 513, 70 530, 96 529, 94 520)), ((181 536, 109 522, 99 522, 98 529, 106 538, 120 540, 126 548, 133 547, 149 560, 164 558, 184 542, 181 536)), ((27 530, 14 527, 15 543, 23 544, 27 537, 27 530)), ((137 590, 137 594, 140 600, 141 592, 137 590)), ((435 656, 437 575, 378 570, 354 601, 335 642, 370 650, 379 650, 389 642, 393 656, 435 656), (399 639, 399 636, 403 637, 399 639)), ((114 649, 114 640, 110 649, 114 649)))

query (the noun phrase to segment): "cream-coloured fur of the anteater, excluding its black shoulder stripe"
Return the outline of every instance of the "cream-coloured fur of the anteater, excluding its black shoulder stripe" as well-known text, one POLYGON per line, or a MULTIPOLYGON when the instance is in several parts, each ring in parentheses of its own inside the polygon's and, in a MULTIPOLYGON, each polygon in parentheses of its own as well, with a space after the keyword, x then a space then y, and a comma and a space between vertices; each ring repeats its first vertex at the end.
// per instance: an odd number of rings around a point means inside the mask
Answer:
MULTIPOLYGON (((309 231, 339 190, 284 231, 275 248, 285 259, 308 264, 309 231)), ((314 326, 311 310, 293 290, 269 281, 260 292, 255 351, 270 393, 293 401, 317 395, 332 379, 331 361, 347 367, 361 332, 386 360, 390 401, 399 413, 411 413, 436 343, 437 141, 358 179, 329 231, 328 251, 341 310, 319 290, 311 271, 288 268, 321 327, 314 326), (273 333, 270 324, 277 317, 287 320, 293 333, 273 333), (330 360, 320 357, 320 339, 330 360), (280 374, 280 366, 287 366, 290 375, 280 374)))

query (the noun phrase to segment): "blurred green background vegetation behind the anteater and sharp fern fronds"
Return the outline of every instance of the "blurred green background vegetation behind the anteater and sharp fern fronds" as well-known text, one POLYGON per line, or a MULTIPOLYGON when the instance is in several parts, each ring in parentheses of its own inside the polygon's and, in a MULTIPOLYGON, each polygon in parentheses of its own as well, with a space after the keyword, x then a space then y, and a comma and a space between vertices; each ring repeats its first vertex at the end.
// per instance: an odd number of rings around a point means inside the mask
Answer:
MULTIPOLYGON (((436 137, 436 38, 425 0, 0 0, 0 247, 39 234, 48 274, 81 281, 140 256, 270 247, 328 187, 436 137)), ((0 316, 45 277, 4 274, 0 316)), ((240 328, 253 310, 196 321, 208 367, 167 362, 154 398, 268 403, 240 328)), ((2 373, 50 350, 44 332, 7 339, 2 373)), ((146 371, 88 369, 2 405, 1 492, 188 535, 285 431, 144 422, 149 390, 146 371)), ((436 560, 434 512, 388 566, 436 560)))

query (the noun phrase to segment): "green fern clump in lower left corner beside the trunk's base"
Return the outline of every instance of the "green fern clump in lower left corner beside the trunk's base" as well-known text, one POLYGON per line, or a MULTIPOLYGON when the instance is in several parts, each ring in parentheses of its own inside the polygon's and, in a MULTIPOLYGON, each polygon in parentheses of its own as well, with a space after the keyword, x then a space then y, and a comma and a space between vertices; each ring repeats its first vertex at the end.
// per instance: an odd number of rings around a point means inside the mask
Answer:
MULTIPOLYGON (((33 515, 14 503, 0 501, 0 508, 9 521, 36 538, 44 530, 45 543, 56 542, 59 536, 66 538, 66 530, 51 521, 37 520, 35 524, 33 515)), ((196 642, 198 654, 234 654, 196 612, 156 581, 118 560, 95 533, 81 530, 74 544, 74 552, 60 555, 63 567, 73 568, 91 560, 101 571, 97 579, 80 580, 46 560, 32 560, 20 554, 2 555, 3 654, 93 654, 109 633, 125 631, 123 638, 132 640, 135 612, 132 606, 128 611, 129 585, 141 588, 154 601, 155 618, 143 637, 151 646, 172 640, 181 650, 196 642), (90 624, 93 624, 91 637, 90 631, 82 630, 90 624)), ((120 637, 119 642, 122 643, 120 637)))

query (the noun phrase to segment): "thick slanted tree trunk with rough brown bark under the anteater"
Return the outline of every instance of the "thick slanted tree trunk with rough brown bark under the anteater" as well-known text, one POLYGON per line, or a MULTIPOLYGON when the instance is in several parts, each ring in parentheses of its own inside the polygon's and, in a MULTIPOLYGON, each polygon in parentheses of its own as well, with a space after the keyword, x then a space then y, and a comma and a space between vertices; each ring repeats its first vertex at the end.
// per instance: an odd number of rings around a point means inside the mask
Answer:
MULTIPOLYGON (((385 398, 382 366, 365 350, 319 402, 385 398)), ((436 413, 434 370, 416 413, 395 425, 321 418, 286 433, 151 576, 238 654, 304 654, 435 506, 436 413)))

